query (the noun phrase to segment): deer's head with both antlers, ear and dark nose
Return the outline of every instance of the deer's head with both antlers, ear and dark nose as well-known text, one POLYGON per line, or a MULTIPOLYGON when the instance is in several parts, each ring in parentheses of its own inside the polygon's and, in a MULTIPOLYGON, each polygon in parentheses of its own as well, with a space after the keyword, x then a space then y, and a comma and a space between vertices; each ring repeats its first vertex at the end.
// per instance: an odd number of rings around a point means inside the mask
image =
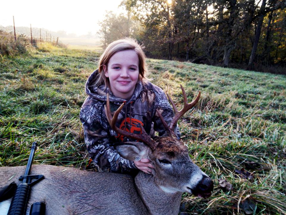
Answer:
POLYGON ((182 85, 181 89, 184 96, 184 108, 180 111, 177 110, 174 102, 167 94, 175 111, 175 116, 172 119, 170 126, 167 125, 159 111, 157 111, 158 116, 166 128, 166 136, 152 139, 147 135, 141 125, 142 134, 129 133, 116 127, 116 119, 124 104, 115 111, 114 116, 112 117, 108 95, 105 113, 111 128, 116 131, 116 133, 139 141, 125 142, 115 146, 118 153, 122 157, 133 161, 144 158, 150 159, 154 166, 154 169, 152 170, 154 181, 164 192, 188 192, 202 197, 209 197, 213 190, 212 180, 191 161, 188 148, 181 140, 177 139, 174 131, 178 119, 198 102, 200 92, 195 100, 188 103, 182 85))

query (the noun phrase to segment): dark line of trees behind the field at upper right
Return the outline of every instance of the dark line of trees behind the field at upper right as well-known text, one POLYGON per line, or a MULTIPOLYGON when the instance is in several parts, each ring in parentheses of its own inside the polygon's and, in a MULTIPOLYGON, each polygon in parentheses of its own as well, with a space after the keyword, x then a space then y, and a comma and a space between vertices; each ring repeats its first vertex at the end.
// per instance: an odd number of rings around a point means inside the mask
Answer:
MULTIPOLYGON (((135 37, 148 57, 263 70, 286 65, 286 0, 124 0, 100 22, 105 47, 135 37)), ((275 72, 275 71, 272 71, 275 72)))

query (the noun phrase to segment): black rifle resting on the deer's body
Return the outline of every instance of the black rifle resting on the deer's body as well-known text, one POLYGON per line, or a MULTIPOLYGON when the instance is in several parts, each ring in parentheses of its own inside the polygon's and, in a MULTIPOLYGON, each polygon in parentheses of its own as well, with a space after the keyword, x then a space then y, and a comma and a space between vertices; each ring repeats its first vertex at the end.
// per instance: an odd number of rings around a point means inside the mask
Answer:
POLYGON ((24 215, 29 199, 30 187, 44 178, 43 175, 29 175, 36 148, 37 143, 33 142, 25 173, 19 178, 22 183, 17 186, 7 215, 24 215), (33 179, 35 180, 32 182, 33 179))

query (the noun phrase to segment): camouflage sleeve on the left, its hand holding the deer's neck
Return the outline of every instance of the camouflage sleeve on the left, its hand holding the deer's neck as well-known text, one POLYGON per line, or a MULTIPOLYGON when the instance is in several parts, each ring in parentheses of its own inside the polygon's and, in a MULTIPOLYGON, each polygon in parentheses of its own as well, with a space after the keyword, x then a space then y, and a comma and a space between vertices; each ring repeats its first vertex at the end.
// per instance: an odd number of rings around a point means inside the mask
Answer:
POLYGON ((87 151, 94 164, 103 171, 116 173, 130 173, 137 169, 133 161, 122 158, 112 146, 116 142, 111 141, 107 120, 100 117, 104 112, 96 115, 92 113, 92 108, 83 107, 80 110, 87 151))

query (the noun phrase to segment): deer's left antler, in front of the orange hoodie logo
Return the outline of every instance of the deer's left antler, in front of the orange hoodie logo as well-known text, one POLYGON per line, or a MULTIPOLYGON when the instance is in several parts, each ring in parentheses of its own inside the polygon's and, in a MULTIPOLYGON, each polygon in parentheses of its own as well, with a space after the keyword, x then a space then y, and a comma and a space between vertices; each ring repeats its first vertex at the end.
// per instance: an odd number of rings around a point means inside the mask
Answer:
POLYGON ((106 105, 104 105, 104 109, 105 109, 106 118, 111 128, 116 133, 121 134, 122 136, 136 139, 136 140, 139 140, 140 142, 144 142, 147 146, 149 146, 152 150, 154 150, 156 148, 156 142, 152 138, 150 138, 150 136, 148 136, 147 132, 145 131, 145 129, 142 127, 141 124, 140 124, 140 128, 142 130, 142 134, 129 133, 125 130, 118 128, 115 125, 118 115, 123 108, 123 105, 124 103, 114 112, 114 115, 112 117, 110 105, 109 105, 109 94, 107 94, 106 105))

